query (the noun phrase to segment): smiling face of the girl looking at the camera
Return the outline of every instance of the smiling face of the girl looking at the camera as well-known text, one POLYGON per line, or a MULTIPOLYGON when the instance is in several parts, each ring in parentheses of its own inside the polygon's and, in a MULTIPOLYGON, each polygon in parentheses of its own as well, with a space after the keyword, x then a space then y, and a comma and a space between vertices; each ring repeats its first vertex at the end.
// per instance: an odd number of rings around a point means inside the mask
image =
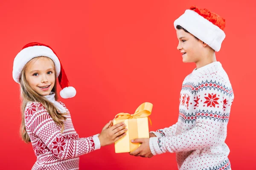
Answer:
POLYGON ((49 95, 55 84, 55 66, 48 57, 36 57, 26 64, 25 77, 29 86, 42 96, 49 95))

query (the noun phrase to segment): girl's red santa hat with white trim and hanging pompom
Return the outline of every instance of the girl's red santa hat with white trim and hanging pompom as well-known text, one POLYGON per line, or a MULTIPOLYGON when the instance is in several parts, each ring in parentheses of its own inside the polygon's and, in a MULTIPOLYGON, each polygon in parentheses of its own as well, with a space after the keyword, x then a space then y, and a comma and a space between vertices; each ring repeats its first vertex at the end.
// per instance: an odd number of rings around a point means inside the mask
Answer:
POLYGON ((31 42, 25 45, 15 57, 12 70, 12 77, 15 82, 20 83, 20 73, 26 63, 31 59, 40 56, 49 57, 55 63, 58 81, 62 88, 60 91, 61 97, 67 99, 75 96, 76 89, 70 86, 60 59, 49 45, 39 42, 31 42))

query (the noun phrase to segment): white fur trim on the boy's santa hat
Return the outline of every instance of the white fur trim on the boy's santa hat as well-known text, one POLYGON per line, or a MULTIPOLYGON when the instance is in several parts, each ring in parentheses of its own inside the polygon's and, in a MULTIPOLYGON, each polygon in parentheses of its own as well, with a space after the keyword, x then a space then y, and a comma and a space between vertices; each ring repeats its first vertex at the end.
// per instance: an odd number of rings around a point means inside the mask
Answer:
POLYGON ((221 43, 226 37, 221 28, 215 26, 213 23, 195 11, 189 9, 187 9, 184 14, 175 20, 175 29, 177 25, 185 28, 187 31, 189 31, 189 33, 205 42, 215 51, 220 51, 221 43))

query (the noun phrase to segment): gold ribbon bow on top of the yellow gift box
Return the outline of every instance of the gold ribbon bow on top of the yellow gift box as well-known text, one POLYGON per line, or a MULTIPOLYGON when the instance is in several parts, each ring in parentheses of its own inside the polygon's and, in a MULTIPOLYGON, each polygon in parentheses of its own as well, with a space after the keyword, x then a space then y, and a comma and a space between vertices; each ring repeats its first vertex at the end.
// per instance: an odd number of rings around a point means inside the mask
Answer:
MULTIPOLYGON (((123 119, 137 119, 137 118, 143 118, 143 117, 148 117, 151 115, 153 105, 152 103, 145 102, 141 104, 135 111, 134 114, 129 114, 129 113, 118 113, 115 116, 116 121, 120 121, 123 119)), ((150 122, 150 125, 152 125, 151 119, 148 117, 148 120, 150 122)))

